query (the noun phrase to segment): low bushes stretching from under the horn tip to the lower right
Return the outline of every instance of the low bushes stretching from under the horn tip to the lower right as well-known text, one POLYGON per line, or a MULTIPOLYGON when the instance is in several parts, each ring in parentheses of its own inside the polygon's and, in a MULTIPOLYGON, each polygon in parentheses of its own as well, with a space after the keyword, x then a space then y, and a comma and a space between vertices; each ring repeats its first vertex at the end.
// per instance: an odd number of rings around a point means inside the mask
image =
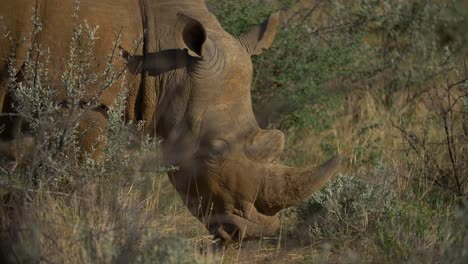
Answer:
MULTIPOLYGON (((380 167, 366 176, 335 177, 323 190, 284 213, 286 231, 303 243, 313 241, 340 252, 344 245, 347 254, 361 262, 440 259, 450 202, 437 193, 423 197, 411 189, 396 191, 399 171, 380 167), (363 246, 368 248, 363 251, 363 246)), ((463 243, 460 236, 457 241, 463 243)))

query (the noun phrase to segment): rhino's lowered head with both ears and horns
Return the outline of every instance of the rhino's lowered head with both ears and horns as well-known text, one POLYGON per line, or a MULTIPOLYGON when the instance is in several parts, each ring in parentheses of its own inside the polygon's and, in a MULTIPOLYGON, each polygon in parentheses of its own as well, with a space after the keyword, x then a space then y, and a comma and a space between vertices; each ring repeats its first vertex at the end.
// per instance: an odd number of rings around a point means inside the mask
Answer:
POLYGON ((251 56, 271 45, 279 14, 240 38, 211 14, 176 17, 172 41, 145 43, 143 56, 145 81, 158 90, 153 124, 166 162, 178 167, 170 181, 215 237, 273 234, 277 213, 318 190, 339 164, 333 158, 305 170, 277 163, 284 135, 255 119, 251 56))

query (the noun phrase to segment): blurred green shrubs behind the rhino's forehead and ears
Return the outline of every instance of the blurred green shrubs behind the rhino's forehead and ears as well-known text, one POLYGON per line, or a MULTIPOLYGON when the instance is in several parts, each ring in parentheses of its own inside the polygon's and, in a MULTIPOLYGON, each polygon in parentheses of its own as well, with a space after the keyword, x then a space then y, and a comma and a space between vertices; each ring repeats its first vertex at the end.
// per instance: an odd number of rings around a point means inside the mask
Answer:
POLYGON ((352 93, 351 86, 376 89, 372 82, 379 75, 387 76, 382 103, 392 107, 396 92, 421 88, 420 74, 432 72, 426 62, 439 56, 444 45, 462 52, 468 39, 459 1, 335 0, 307 7, 266 0, 209 4, 235 35, 258 23, 259 17, 289 7, 273 47, 254 59, 254 108, 263 126, 329 129, 340 95, 352 93), (331 84, 337 87, 330 90, 331 84))

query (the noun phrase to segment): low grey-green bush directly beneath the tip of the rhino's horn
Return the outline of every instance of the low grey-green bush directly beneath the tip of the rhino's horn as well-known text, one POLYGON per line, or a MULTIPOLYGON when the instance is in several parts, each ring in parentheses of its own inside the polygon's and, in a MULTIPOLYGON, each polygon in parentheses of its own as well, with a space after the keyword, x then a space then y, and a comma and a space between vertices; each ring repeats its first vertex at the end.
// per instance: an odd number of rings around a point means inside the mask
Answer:
MULTIPOLYGON (((376 170, 373 176, 382 172, 376 170)), ((394 202, 396 194, 392 178, 374 182, 369 179, 339 175, 299 205, 296 210, 300 219, 315 218, 309 224, 309 236, 339 240, 363 233, 374 225, 394 202)))

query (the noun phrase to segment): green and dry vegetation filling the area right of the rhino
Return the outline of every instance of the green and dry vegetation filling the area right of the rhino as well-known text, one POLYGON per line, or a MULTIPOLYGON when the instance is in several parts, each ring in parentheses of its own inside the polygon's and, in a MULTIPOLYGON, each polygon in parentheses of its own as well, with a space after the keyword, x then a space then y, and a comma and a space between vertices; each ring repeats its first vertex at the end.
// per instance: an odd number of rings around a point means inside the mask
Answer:
POLYGON ((287 132, 291 163, 347 159, 284 212, 284 243, 317 249, 312 263, 466 261, 466 235, 451 229, 468 193, 466 3, 258 0, 223 13, 212 2, 233 34, 255 23, 233 23, 237 10, 287 10, 255 59, 257 119, 287 132))

